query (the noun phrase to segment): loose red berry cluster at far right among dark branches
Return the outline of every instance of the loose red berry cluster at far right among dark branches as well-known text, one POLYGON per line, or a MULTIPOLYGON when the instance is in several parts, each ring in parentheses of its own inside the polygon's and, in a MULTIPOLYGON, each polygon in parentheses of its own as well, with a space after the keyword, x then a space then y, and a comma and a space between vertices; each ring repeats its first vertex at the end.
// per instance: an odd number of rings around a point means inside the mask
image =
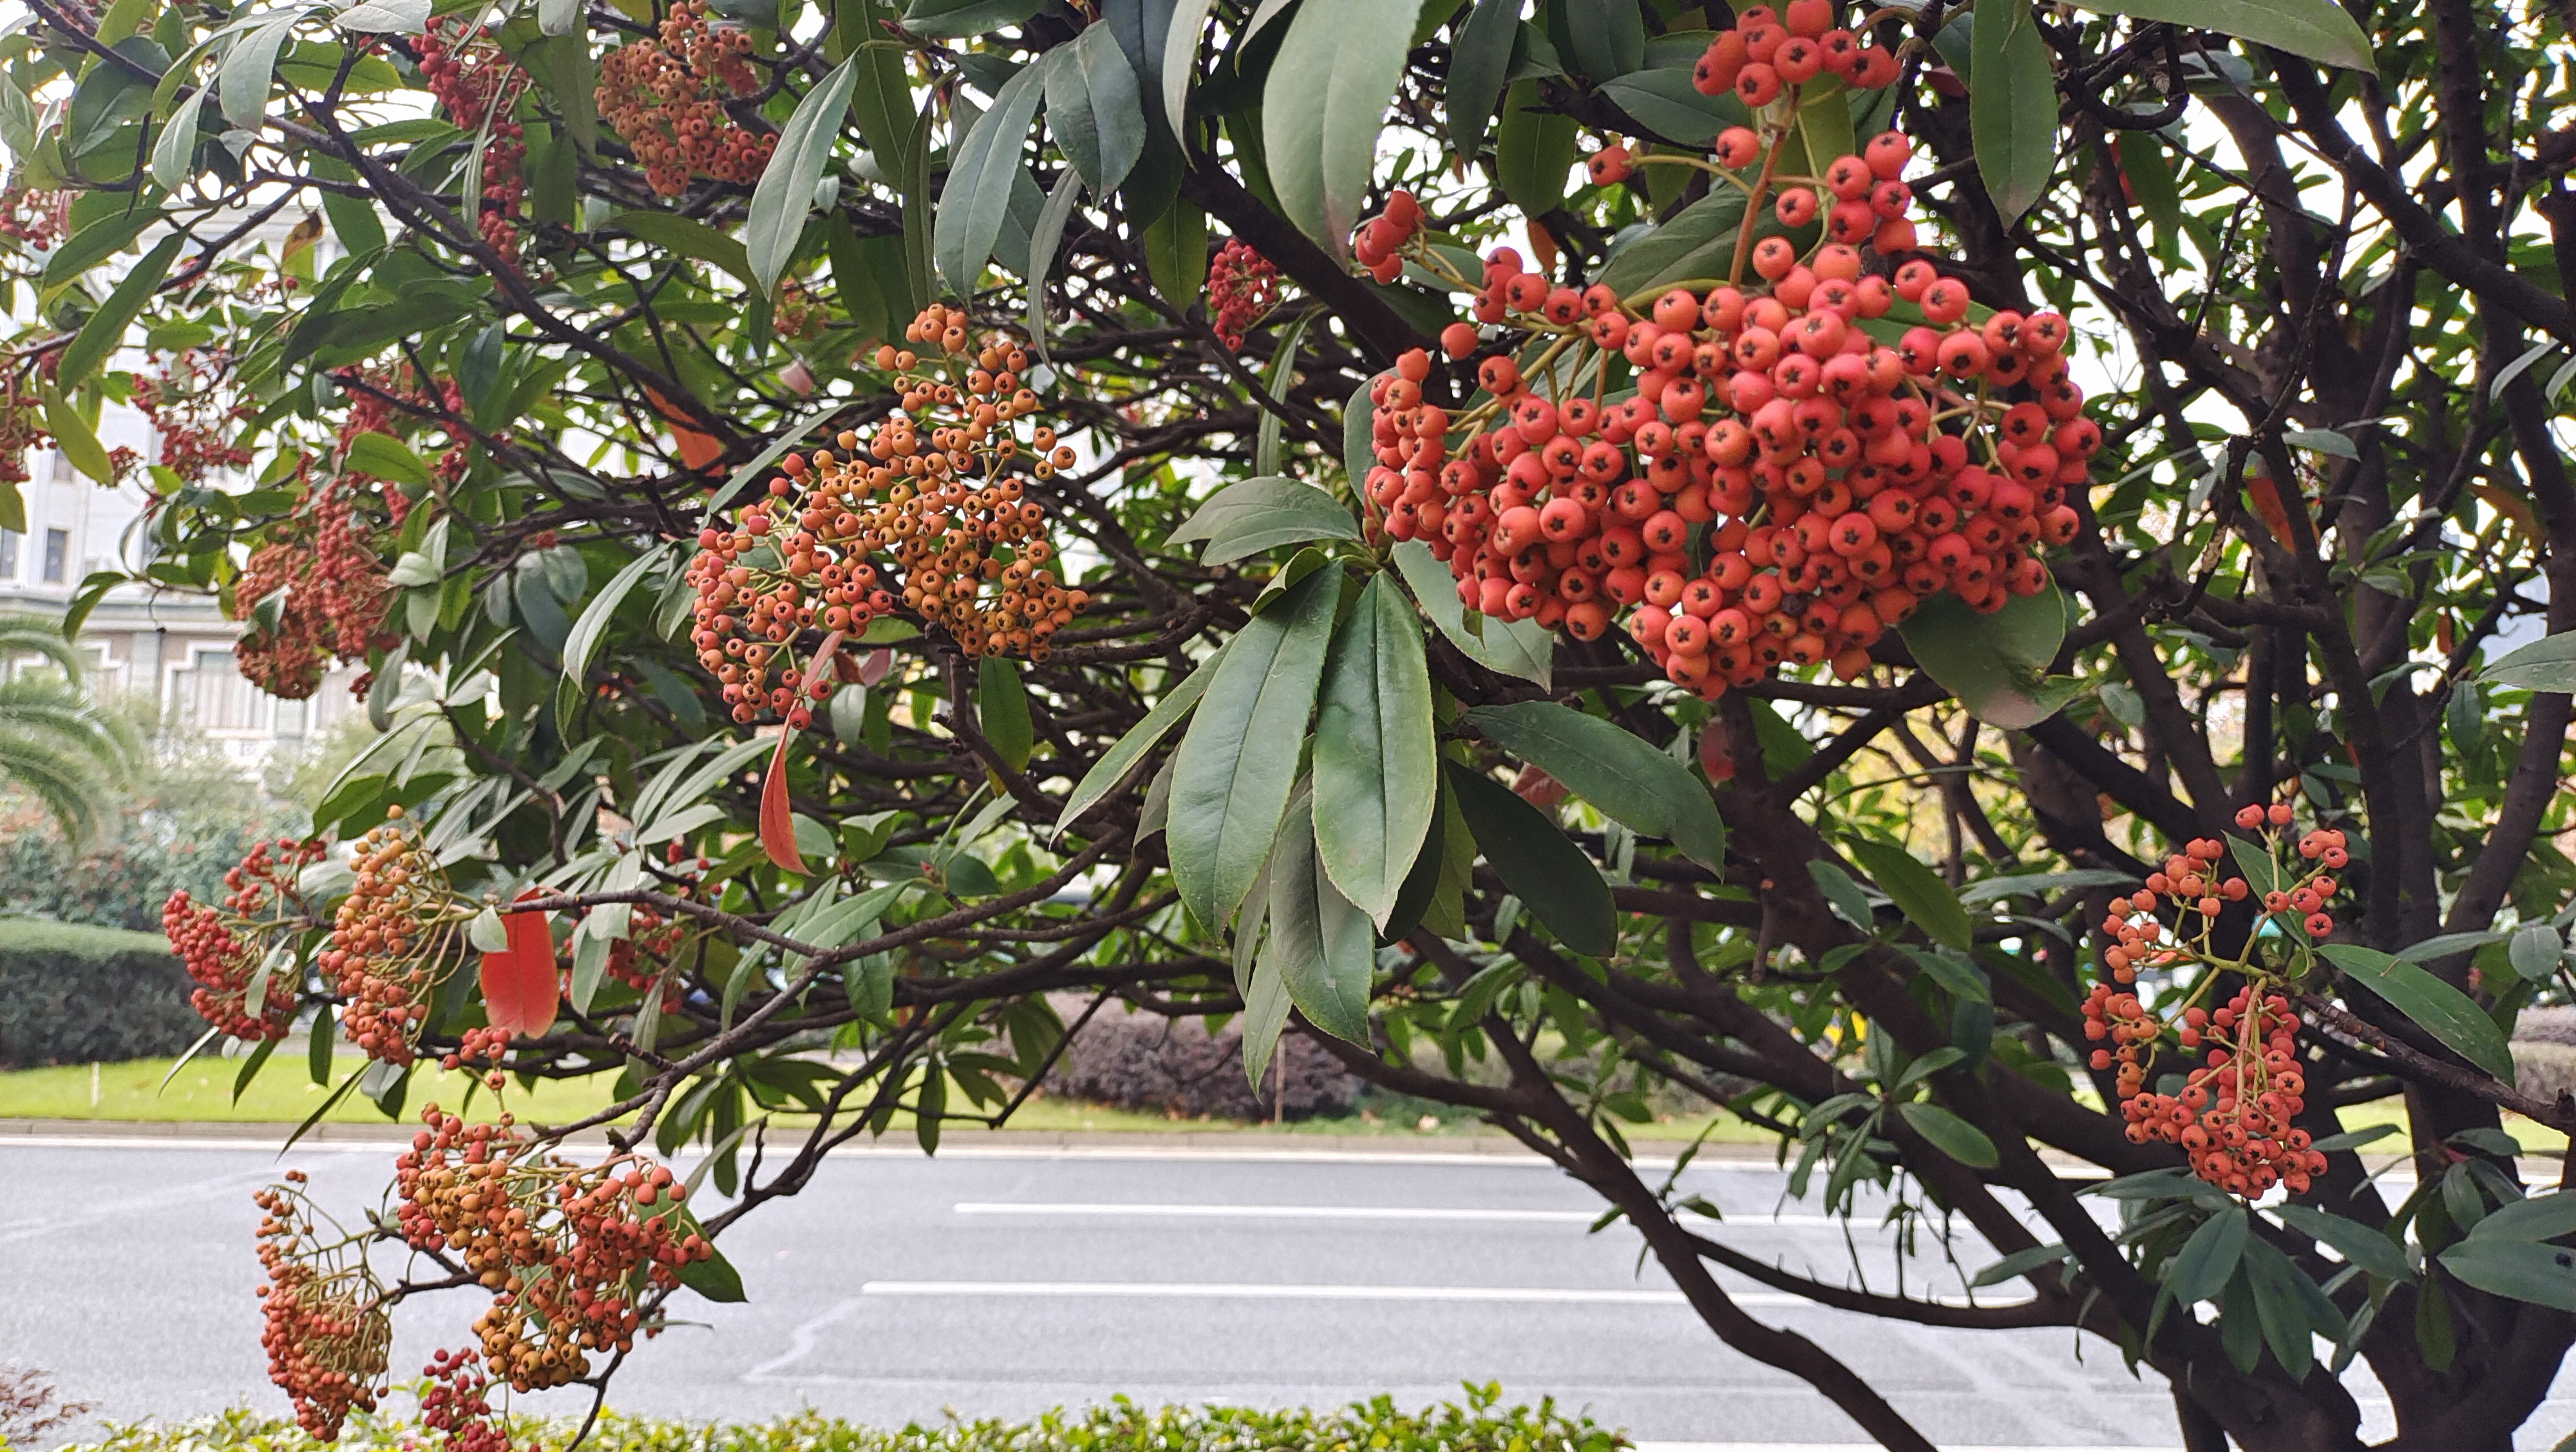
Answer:
MULTIPOLYGON (((2236 814, 2246 832, 2264 832, 2267 857, 2277 862, 2280 829, 2290 826, 2290 806, 2249 806, 2236 814)), ((2254 945, 2267 935, 2308 940, 2334 932, 2326 904, 2331 878, 2349 857, 2344 834, 2316 829, 2298 839, 2298 855, 2311 865, 2303 875, 2272 868, 2280 883, 2262 891, 2262 914, 2246 935, 2246 953, 2221 955, 2210 937, 2228 904, 2257 896, 2244 875, 2223 878, 2228 844, 2195 839, 2146 878, 2146 891, 2115 898, 2102 932, 2115 942, 2102 953, 2110 981, 2094 983, 2084 1001, 2084 1035, 2094 1048, 2097 1071, 2117 1071, 2120 1115, 2136 1143, 2172 1143, 2192 1161, 2192 1174, 2231 1195, 2262 1195, 2275 1184, 2308 1189, 2324 1174, 2326 1156, 2311 1148, 2308 1130, 2295 1128, 2306 1107, 2306 1071, 2298 1058, 2300 1019, 2290 999, 2275 991, 2272 976, 2254 963, 2254 945), (2169 911, 2172 922, 2159 917, 2169 911), (2282 922, 2285 919, 2285 922, 2282 922), (2295 924, 2295 927, 2293 927, 2295 924), (2141 1001, 2141 968, 2208 968, 2179 1012, 2156 1012, 2141 1001), (2197 999, 2221 981, 2239 983, 2221 1009, 2197 999), (2172 1035, 2184 1056, 2200 1061, 2174 1094, 2151 1092, 2154 1053, 2172 1035)))

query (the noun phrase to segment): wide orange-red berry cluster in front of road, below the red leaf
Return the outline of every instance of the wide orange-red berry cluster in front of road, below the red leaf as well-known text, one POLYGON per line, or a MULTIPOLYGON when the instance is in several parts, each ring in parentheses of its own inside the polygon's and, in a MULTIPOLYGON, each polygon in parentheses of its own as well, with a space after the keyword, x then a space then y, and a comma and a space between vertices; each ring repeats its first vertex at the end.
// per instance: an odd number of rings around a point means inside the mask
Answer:
POLYGON ((507 1115, 469 1125, 428 1104, 420 1120, 394 1161, 402 1233, 495 1292, 474 1331, 513 1390, 559 1388, 590 1372, 592 1352, 657 1334, 636 1298, 716 1254, 670 1213, 685 1197, 670 1166, 631 1153, 580 1166, 538 1151, 507 1115))

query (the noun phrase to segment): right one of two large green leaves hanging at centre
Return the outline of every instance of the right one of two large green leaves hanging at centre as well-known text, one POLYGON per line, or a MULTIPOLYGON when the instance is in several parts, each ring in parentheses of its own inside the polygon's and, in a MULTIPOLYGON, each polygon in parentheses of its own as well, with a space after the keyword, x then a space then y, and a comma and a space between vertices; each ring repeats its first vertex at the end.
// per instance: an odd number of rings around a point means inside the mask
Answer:
POLYGON ((1332 636, 1314 718, 1316 852, 1370 922, 1396 909, 1440 806, 1437 783, 1422 623, 1378 574, 1332 636))

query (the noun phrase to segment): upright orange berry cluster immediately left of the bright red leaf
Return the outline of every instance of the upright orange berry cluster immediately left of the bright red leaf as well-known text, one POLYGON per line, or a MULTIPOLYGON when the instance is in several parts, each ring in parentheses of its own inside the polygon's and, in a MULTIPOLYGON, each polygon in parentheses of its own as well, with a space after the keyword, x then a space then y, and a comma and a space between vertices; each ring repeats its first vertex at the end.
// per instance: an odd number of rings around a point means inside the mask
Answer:
POLYGON ((399 806, 386 816, 355 842, 355 886, 340 898, 322 971, 345 999, 340 1027, 350 1043, 368 1058, 412 1063, 430 994, 464 955, 446 873, 399 806))

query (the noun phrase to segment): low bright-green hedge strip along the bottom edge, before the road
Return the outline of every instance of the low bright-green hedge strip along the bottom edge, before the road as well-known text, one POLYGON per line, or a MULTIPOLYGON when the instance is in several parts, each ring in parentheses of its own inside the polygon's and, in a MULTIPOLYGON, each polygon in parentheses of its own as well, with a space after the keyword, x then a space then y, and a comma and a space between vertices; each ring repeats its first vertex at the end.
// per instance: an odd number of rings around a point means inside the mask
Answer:
MULTIPOLYGON (((1139 1408, 1126 1398, 1036 1421, 943 1421, 878 1431, 814 1411, 755 1424, 698 1426, 608 1413, 585 1452, 1615 1452, 1631 1442, 1569 1419, 1553 1401, 1504 1408, 1502 1388, 1468 1385, 1466 1406, 1401 1413, 1391 1398, 1340 1411, 1255 1411, 1239 1406, 1139 1408)), ((518 1421, 515 1447, 564 1447, 574 1424, 518 1421)), ((103 1442, 67 1452, 322 1452, 286 1419, 227 1411, 173 1426, 116 1426, 103 1442)), ((345 1452, 425 1452, 435 1434, 399 1419, 355 1416, 340 1431, 345 1452)))

